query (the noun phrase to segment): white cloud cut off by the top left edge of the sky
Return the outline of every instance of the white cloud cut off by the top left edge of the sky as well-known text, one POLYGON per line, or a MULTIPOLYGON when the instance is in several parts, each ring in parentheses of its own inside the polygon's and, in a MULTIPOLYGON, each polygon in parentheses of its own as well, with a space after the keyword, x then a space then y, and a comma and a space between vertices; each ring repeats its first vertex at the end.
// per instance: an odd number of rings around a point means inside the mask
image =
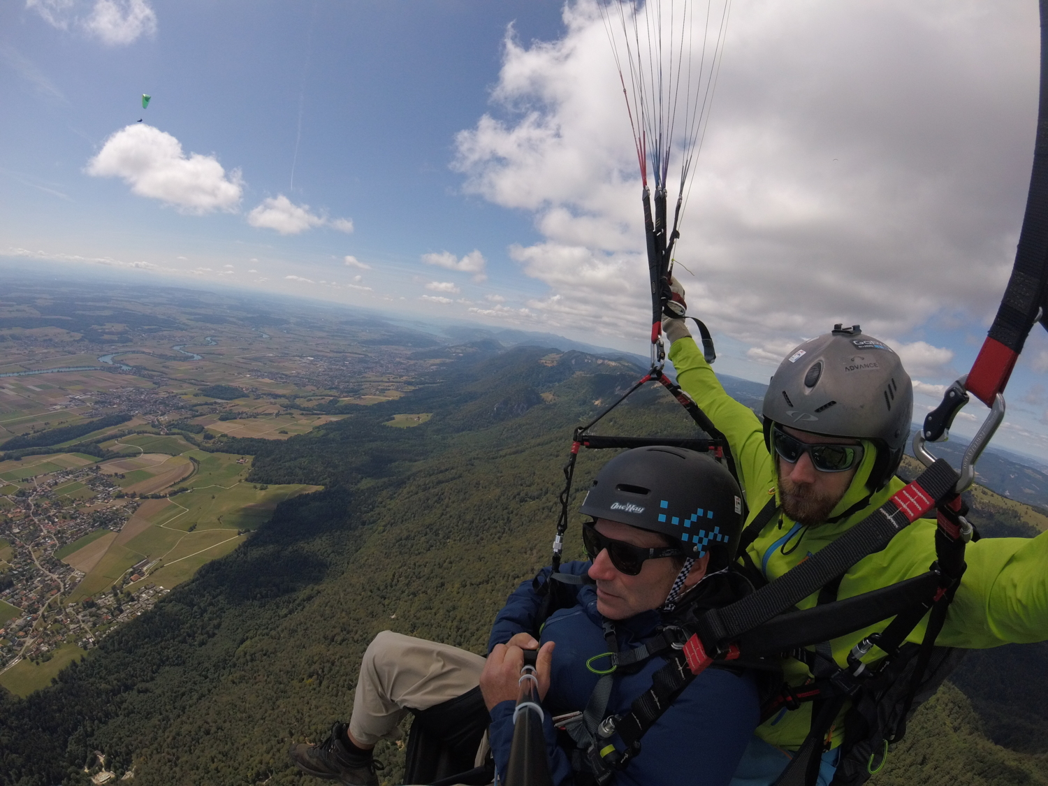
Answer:
POLYGON ((110 46, 156 32, 156 13, 146 0, 26 0, 25 5, 59 29, 79 28, 110 46))

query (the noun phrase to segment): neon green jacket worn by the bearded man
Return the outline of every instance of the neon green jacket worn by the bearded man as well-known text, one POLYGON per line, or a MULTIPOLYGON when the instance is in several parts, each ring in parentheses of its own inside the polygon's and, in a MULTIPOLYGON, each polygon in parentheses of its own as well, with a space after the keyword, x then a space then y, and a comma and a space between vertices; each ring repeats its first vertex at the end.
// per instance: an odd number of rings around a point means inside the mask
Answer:
MULTIPOLYGON (((727 439, 752 519, 771 495, 778 495, 776 464, 764 442, 760 419, 749 408, 728 396, 692 339, 674 342, 670 359, 677 369, 677 383, 727 439)), ((847 510, 868 494, 865 484, 874 451, 871 444, 865 444, 863 463, 830 518, 847 510)), ((860 522, 902 485, 902 481, 893 478, 870 498, 865 508, 834 524, 803 527, 783 516, 757 537, 749 546, 749 554, 768 581, 778 578, 860 522)), ((935 561, 935 521, 930 519, 911 524, 895 536, 883 551, 856 563, 842 580, 837 597, 858 595, 927 571, 935 561)), ((967 571, 937 643, 986 649, 1048 639, 1048 532, 1033 539, 987 538, 970 543, 965 561, 967 571)), ((810 608, 816 598, 817 595, 812 594, 798 606, 810 608)), ((926 620, 927 617, 917 626, 909 640, 919 642, 922 639, 926 620)), ((845 665, 855 643, 885 627, 887 623, 881 623, 833 639, 833 657, 837 663, 845 665)), ((865 660, 881 657, 883 653, 874 648, 865 660)), ((807 667, 796 660, 788 661, 785 671, 791 684, 800 684, 810 676, 807 667)), ((757 729, 757 734, 772 745, 795 749, 804 742, 810 721, 811 704, 804 703, 798 709, 772 717, 757 729)), ((834 745, 839 744, 842 733, 838 719, 837 728, 831 733, 834 745)))

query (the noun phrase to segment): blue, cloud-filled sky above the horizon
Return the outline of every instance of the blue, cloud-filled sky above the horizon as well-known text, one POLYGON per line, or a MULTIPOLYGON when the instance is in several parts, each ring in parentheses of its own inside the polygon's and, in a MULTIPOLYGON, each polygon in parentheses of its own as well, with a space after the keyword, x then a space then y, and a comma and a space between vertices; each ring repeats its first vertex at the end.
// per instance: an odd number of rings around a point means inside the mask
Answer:
MULTIPOLYGON (((639 181, 595 7, 2 4, 0 269, 106 265, 645 352, 639 181)), ((857 322, 902 355, 915 414, 933 406, 1010 268, 1036 57, 1027 0, 736 0, 678 253, 718 368, 765 380, 857 322)), ((1035 328, 1002 446, 1048 458, 1046 371, 1035 328)))

